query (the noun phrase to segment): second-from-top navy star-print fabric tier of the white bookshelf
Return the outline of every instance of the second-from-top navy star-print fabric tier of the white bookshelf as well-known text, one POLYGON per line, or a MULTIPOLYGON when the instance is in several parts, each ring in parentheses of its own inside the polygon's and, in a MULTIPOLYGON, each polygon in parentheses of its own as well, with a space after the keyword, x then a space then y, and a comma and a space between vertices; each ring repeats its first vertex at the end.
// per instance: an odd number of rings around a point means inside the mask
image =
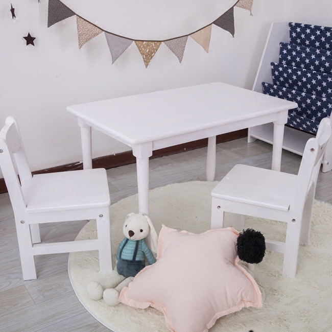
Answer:
POLYGON ((332 51, 280 43, 279 63, 332 74, 332 51))

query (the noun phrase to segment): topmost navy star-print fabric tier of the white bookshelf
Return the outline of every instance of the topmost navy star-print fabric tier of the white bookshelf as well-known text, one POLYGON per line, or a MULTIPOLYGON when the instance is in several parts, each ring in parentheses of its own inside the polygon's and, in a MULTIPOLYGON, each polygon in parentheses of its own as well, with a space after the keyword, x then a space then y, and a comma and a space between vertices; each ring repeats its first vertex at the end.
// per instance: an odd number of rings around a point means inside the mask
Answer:
POLYGON ((291 44, 332 50, 332 28, 294 22, 289 27, 291 44))

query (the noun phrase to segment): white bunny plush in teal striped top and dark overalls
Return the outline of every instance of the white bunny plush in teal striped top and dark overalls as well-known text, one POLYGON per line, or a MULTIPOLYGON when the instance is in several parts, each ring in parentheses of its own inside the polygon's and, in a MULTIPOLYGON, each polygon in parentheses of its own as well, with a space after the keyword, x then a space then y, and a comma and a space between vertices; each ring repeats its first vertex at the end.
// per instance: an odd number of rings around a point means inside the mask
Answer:
POLYGON ((134 276, 145 267, 145 257, 150 265, 156 262, 153 253, 157 252, 158 235, 151 219, 144 214, 128 214, 123 225, 125 238, 117 248, 117 275, 101 285, 89 281, 86 285, 88 296, 93 300, 104 299, 108 305, 117 305, 122 289, 134 279, 134 276), (151 250, 144 239, 150 233, 151 250))

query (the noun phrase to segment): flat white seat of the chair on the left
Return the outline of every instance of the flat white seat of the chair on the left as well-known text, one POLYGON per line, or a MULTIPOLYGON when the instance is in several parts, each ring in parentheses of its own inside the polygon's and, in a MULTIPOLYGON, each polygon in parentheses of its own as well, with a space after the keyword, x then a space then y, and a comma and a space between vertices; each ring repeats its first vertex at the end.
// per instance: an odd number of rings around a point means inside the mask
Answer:
POLYGON ((22 181, 29 214, 110 205, 105 169, 36 174, 22 181))

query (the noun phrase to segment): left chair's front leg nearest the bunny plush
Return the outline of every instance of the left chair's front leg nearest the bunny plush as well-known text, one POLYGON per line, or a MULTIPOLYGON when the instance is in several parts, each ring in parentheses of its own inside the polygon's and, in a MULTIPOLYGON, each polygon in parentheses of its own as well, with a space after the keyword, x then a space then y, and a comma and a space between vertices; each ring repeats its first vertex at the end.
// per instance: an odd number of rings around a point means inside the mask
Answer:
POLYGON ((108 208, 101 210, 97 218, 97 233, 99 242, 99 266, 101 272, 112 271, 111 233, 108 208))

